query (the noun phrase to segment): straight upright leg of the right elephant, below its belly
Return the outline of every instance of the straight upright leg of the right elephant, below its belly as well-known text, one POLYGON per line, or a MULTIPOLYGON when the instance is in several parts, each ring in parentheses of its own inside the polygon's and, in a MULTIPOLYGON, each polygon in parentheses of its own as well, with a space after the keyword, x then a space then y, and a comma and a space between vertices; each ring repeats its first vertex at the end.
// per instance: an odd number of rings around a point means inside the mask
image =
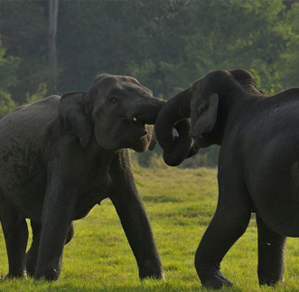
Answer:
POLYGON ((284 280, 286 237, 266 226, 257 215, 258 267, 260 285, 275 285, 284 280))

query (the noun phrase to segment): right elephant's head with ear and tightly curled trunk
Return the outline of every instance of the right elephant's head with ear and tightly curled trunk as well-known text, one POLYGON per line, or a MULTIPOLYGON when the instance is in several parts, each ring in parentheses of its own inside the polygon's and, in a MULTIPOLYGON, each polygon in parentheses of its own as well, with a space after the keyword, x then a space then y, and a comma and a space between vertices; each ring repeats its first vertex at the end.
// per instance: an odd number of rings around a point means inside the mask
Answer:
POLYGON ((183 90, 165 103, 156 120, 155 135, 164 148, 167 165, 179 165, 188 156, 196 154, 196 150, 221 144, 224 125, 219 122, 223 120, 218 110, 220 99, 227 92, 237 92, 238 89, 260 94, 249 71, 211 71, 194 81, 191 88, 183 90), (186 126, 182 135, 173 138, 173 126, 183 118, 191 118, 192 133, 186 126), (192 145, 192 137, 195 146, 192 145))

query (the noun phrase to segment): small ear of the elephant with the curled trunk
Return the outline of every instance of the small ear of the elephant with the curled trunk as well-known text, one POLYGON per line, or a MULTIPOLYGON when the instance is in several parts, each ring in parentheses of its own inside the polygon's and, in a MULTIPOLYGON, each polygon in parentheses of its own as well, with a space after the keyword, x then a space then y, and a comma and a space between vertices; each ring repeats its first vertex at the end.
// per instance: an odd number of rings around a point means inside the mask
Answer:
POLYGON ((218 94, 210 93, 208 96, 201 96, 204 100, 198 110, 200 116, 192 130, 192 137, 200 137, 203 133, 209 133, 216 124, 219 105, 218 94))

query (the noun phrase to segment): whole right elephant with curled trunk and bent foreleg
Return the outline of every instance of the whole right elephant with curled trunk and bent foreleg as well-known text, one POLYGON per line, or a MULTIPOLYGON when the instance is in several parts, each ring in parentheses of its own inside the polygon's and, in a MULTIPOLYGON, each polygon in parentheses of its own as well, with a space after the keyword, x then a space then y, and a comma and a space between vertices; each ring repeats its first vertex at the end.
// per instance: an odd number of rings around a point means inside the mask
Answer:
POLYGON ((167 164, 180 164, 192 148, 220 146, 218 205, 195 255, 203 287, 232 285, 220 262, 246 231, 251 212, 259 284, 284 279, 286 237, 299 237, 298 112, 299 88, 267 96, 245 69, 210 71, 159 112, 154 130, 167 164), (182 118, 191 118, 191 130, 174 143, 173 125, 182 118))

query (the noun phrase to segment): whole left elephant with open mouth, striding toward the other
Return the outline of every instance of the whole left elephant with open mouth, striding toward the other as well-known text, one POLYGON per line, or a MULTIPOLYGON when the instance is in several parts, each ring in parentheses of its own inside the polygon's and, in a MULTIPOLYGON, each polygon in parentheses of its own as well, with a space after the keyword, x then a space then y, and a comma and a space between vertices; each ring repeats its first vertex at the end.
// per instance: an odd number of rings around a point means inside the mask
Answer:
MULTIPOLYGON (((87 92, 51 96, 0 120, 0 219, 8 278, 56 280, 72 221, 114 203, 139 277, 163 268, 135 187, 129 151, 145 151, 164 102, 137 80, 100 75, 87 92), (25 256, 31 220, 33 244, 25 256)), ((100 227, 99 227, 100 228, 100 227)))

